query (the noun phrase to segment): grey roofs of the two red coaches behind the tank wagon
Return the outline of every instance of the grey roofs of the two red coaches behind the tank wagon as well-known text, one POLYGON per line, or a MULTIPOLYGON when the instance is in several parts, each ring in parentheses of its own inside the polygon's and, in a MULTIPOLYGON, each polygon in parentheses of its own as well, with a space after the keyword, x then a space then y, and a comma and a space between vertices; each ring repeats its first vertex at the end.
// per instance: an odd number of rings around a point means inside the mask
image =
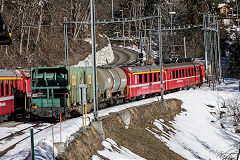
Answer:
MULTIPOLYGON (((198 63, 186 62, 186 63, 164 64, 163 67, 165 69, 174 69, 174 68, 194 67, 194 65, 200 66, 198 63)), ((159 66, 133 66, 133 67, 126 67, 126 68, 128 68, 130 72, 146 72, 146 71, 160 70, 159 66)))

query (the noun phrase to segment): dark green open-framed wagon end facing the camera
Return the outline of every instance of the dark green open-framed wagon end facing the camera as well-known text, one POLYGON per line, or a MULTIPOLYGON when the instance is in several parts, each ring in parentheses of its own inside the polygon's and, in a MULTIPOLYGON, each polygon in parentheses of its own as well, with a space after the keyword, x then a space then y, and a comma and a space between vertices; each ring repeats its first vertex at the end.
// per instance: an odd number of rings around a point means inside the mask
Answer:
POLYGON ((30 113, 58 117, 69 107, 68 70, 64 66, 31 68, 30 113))

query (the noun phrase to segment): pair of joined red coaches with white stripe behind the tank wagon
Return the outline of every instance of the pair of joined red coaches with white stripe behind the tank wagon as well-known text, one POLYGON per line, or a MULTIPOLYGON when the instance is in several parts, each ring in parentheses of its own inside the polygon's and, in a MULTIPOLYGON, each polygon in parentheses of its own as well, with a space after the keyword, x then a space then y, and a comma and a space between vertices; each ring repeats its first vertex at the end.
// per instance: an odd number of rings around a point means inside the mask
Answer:
MULTIPOLYGON (((159 66, 133 66, 122 68, 127 75, 127 98, 144 97, 161 91, 159 66)), ((203 65, 195 62, 165 64, 164 91, 200 85, 203 83, 203 65)))

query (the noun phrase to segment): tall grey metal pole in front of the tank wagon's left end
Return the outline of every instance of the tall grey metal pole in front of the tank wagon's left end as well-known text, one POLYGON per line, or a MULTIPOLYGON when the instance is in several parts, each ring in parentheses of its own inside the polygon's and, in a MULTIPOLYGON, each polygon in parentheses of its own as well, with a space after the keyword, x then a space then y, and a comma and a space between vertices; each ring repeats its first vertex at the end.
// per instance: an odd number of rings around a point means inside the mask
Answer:
POLYGON ((93 103, 94 119, 98 118, 98 95, 97 95, 97 63, 96 63, 96 32, 95 32, 95 0, 91 1, 91 37, 92 37, 92 59, 93 59, 93 103))

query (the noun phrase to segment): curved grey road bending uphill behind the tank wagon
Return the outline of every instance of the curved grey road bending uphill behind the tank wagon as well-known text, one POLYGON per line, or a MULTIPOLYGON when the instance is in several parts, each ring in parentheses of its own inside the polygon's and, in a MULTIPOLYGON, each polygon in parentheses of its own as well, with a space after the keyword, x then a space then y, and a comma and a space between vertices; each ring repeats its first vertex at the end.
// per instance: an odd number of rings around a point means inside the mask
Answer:
POLYGON ((121 65, 134 64, 137 62, 138 55, 136 52, 115 46, 113 46, 112 49, 115 58, 110 66, 118 67, 121 65))

